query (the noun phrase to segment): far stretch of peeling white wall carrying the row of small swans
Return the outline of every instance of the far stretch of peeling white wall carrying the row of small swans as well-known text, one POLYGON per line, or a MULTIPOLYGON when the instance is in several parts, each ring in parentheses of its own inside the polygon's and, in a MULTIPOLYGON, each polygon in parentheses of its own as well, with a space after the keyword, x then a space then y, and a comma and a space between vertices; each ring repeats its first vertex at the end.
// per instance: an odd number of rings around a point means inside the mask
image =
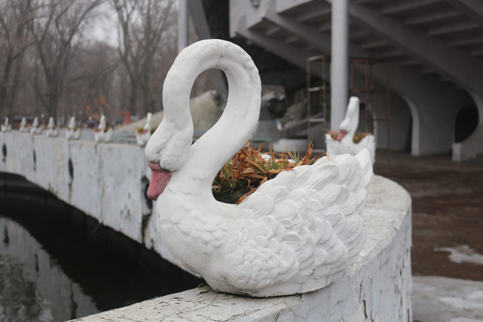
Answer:
POLYGON ((151 170, 144 148, 12 131, 0 133, 0 153, 0 172, 25 177, 185 269, 157 233, 156 215, 152 214, 156 203, 145 196, 151 170), (1 151, 3 145, 6 156, 1 151))

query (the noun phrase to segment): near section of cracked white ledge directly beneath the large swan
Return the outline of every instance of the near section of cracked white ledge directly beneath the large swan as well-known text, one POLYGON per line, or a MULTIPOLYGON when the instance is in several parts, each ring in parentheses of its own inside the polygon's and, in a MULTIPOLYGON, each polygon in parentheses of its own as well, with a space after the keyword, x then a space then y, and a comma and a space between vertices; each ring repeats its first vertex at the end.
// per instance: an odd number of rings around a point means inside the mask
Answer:
POLYGON ((411 198, 376 176, 364 211, 361 257, 321 290, 248 298, 204 286, 75 321, 412 321, 411 198))

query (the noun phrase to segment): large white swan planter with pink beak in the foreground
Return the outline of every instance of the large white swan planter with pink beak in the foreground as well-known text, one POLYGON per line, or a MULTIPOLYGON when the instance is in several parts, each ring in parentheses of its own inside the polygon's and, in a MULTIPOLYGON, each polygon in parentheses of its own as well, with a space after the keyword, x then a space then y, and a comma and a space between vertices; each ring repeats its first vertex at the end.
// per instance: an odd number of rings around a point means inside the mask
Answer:
POLYGON ((369 152, 283 171, 239 205, 216 201, 213 178, 252 136, 260 91, 258 70, 239 46, 203 40, 186 47, 166 76, 164 118, 146 146, 148 196, 157 200, 164 245, 214 290, 251 296, 314 291, 341 277, 364 245, 369 152), (211 68, 227 75, 228 103, 191 145, 191 87, 211 68))

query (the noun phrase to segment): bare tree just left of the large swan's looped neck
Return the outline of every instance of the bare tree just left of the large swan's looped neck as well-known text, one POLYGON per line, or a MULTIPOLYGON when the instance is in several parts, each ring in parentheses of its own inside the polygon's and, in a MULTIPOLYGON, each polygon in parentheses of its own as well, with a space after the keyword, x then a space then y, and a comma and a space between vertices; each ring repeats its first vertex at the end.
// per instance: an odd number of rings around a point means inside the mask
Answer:
POLYGON ((173 0, 111 0, 119 20, 119 56, 130 82, 128 109, 131 113, 154 111, 154 66, 166 29, 174 25, 170 14, 173 0), (142 105, 138 96, 142 95, 142 105))

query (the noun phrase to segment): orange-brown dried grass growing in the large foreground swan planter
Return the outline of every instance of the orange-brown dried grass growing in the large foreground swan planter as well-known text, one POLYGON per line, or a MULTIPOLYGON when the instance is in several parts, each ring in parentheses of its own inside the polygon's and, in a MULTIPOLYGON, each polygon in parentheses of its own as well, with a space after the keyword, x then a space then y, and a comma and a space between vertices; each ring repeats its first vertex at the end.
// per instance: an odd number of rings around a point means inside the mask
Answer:
POLYGON ((254 150, 248 141, 245 147, 218 171, 212 185, 216 200, 238 205, 256 191, 260 184, 275 178, 280 172, 290 171, 298 166, 312 165, 320 158, 320 155, 311 158, 312 141, 302 158, 295 151, 293 154, 289 151, 278 154, 270 147, 270 153, 260 153, 261 148, 260 144, 258 150, 254 150), (269 155, 269 158, 262 155, 269 155))

